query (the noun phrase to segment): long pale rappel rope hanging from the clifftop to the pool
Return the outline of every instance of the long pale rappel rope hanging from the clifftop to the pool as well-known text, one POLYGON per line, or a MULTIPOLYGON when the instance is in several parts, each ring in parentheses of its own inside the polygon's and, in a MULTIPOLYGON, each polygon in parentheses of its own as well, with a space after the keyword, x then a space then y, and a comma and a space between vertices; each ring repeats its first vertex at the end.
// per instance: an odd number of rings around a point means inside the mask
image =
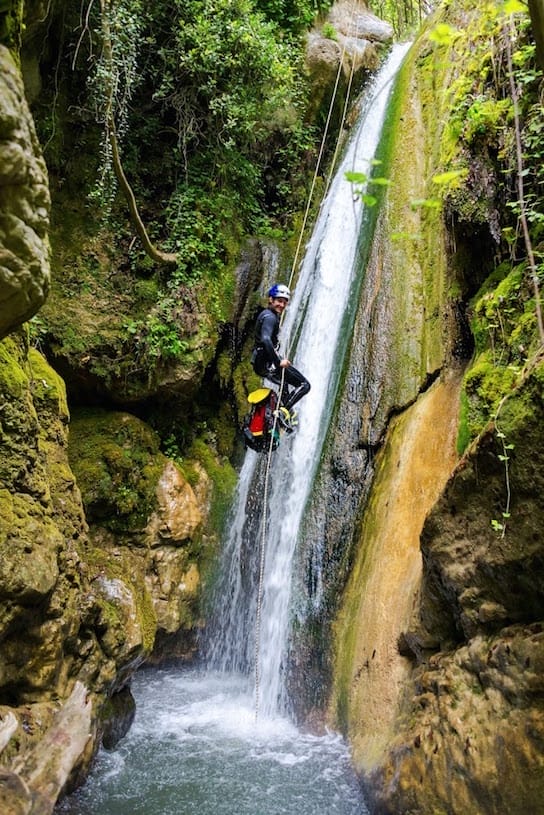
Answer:
MULTIPOLYGON (((352 17, 351 17, 351 20, 350 20, 350 29, 349 29, 350 34, 351 34, 351 29, 353 27, 354 16, 355 16, 355 10, 353 10, 352 17)), ((302 241, 304 239, 304 234, 305 234, 305 231, 306 231, 306 226, 307 226, 308 218, 309 218, 309 214, 310 214, 310 208, 311 208, 311 205, 312 205, 312 198, 313 198, 313 194, 314 194, 314 191, 315 191, 315 186, 317 184, 317 177, 318 177, 318 173, 319 173, 319 168, 320 168, 321 161, 322 161, 322 158, 323 158, 323 153, 325 151, 325 144, 326 144, 327 135, 328 135, 328 132, 329 132, 329 126, 330 126, 330 122, 331 122, 331 118, 332 118, 334 103, 335 103, 335 100, 336 100, 336 95, 338 93, 338 86, 340 84, 340 77, 342 75, 342 66, 344 64, 344 57, 345 57, 345 54, 346 54, 347 40, 348 40, 348 38, 346 37, 344 39, 344 43, 343 43, 343 47, 342 47, 342 53, 340 55, 340 60, 339 60, 339 63, 338 63, 338 71, 336 73, 336 80, 335 80, 333 92, 332 92, 332 95, 331 95, 331 101, 330 101, 329 110, 328 110, 328 114, 327 114, 327 120, 325 122, 325 128, 323 130, 323 137, 321 139, 319 154, 317 156, 317 161, 316 161, 315 170, 314 170, 314 174, 313 174, 313 178, 312 178, 312 183, 311 183, 311 186, 310 186, 310 192, 308 194, 308 200, 307 200, 307 203, 306 203, 306 209, 304 211, 304 218, 302 219, 302 226, 300 228, 298 242, 297 242, 295 254, 294 254, 294 257, 293 257, 293 263, 292 263, 292 266, 291 266, 291 272, 290 272, 290 275, 289 275, 289 282, 288 282, 289 288, 291 288, 293 277, 295 276, 295 271, 296 271, 296 268, 297 268, 297 265, 298 265, 298 259, 299 259, 300 250, 301 250, 301 247, 302 247, 302 241)), ((348 109, 348 103, 349 103, 349 97, 350 97, 354 72, 355 72, 355 58, 353 58, 352 61, 351 61, 351 71, 350 71, 350 77, 349 77, 347 92, 346 92, 346 100, 345 100, 345 103, 344 103, 344 109, 343 109, 343 113, 342 113, 342 119, 341 119, 340 127, 338 129, 338 138, 336 140, 335 150, 334 150, 333 158, 332 158, 332 161, 331 161, 331 166, 330 166, 330 169, 329 169, 327 183, 325 185, 325 190, 324 190, 323 195, 322 195, 322 202, 323 202, 323 200, 325 199, 325 196, 328 193, 329 186, 330 186, 330 180, 332 178, 332 175, 333 175, 333 172, 334 172, 334 167, 335 167, 336 160, 337 160, 338 153, 339 153, 340 142, 341 142, 341 137, 342 137, 342 129, 343 129, 343 126, 344 126, 346 115, 347 115, 347 109, 348 109)), ((283 322, 283 316, 284 316, 284 314, 281 315, 280 325, 283 322)), ((288 351, 289 351, 289 346, 288 346, 288 351)), ((258 582, 258 588, 257 588, 257 609, 256 609, 256 616, 255 616, 255 721, 257 721, 257 719, 259 718, 259 703, 260 703, 261 611, 262 611, 262 601, 263 601, 264 566, 265 566, 265 560, 266 560, 266 531, 267 531, 267 518, 268 518, 268 485, 269 485, 269 476, 270 476, 271 462, 272 462, 274 435, 275 435, 277 424, 278 424, 278 410, 279 410, 279 405, 281 404, 281 397, 283 395, 284 384, 285 384, 285 368, 282 368, 280 388, 279 388, 279 391, 278 391, 278 402, 277 402, 277 405, 276 405, 276 411, 275 411, 275 416, 274 416, 274 424, 272 426, 272 433, 270 434, 270 445, 269 445, 269 448, 268 448, 268 454, 267 454, 267 459, 266 459, 266 470, 265 470, 265 479, 264 479, 264 500, 263 500, 263 513, 262 513, 262 522, 261 522, 261 545, 260 545, 260 555, 259 555, 259 582, 258 582)))

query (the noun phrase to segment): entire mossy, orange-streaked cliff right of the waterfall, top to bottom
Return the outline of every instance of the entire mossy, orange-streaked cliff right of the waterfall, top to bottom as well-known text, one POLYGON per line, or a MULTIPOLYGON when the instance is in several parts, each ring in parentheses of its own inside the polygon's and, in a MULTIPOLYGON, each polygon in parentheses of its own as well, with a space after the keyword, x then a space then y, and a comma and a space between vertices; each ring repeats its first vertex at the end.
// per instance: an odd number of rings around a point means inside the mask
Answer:
MULTIPOLYGON (((509 47, 517 59, 534 50, 526 23, 515 34, 500 14, 445 4, 414 46, 386 204, 393 219, 376 242, 384 267, 399 246, 404 262, 418 258, 423 303, 433 286, 449 293, 423 323, 416 303, 405 323, 393 317, 393 370, 406 370, 406 331, 432 355, 449 352, 435 356, 441 376, 428 392, 407 410, 398 402, 335 627, 333 715, 376 813, 544 811, 542 337, 526 247, 512 260, 502 243, 516 210, 505 207, 515 166, 505 66, 509 47), (416 229, 388 243, 423 210, 416 229), (410 234, 419 249, 406 251, 410 234), (445 346, 437 333, 421 341, 437 318, 445 346), (463 356, 460 386, 445 374, 463 356)), ((524 110, 527 125, 529 91, 524 110)), ((530 153, 529 200, 539 174, 530 153)), ((392 392, 402 379, 392 376, 392 392)))

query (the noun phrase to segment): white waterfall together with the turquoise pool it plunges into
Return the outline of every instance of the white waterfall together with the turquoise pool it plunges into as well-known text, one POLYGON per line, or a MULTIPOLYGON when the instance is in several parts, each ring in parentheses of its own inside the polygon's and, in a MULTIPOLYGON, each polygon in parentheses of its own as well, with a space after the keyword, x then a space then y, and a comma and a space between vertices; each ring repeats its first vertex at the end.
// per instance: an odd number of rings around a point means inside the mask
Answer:
POLYGON ((321 206, 282 334, 284 350, 312 383, 300 428, 273 454, 263 532, 266 457, 243 464, 222 581, 202 672, 141 672, 136 719, 114 752, 101 750, 87 784, 58 815, 365 815, 342 739, 300 731, 286 715, 292 563, 304 508, 330 420, 357 290, 363 206, 346 170, 367 173, 391 81, 406 52, 397 46, 368 93, 321 206), (349 320, 348 320, 349 322, 349 320), (287 340, 286 338, 290 338, 287 340), (258 640, 261 705, 252 677, 260 546, 265 545, 258 640))

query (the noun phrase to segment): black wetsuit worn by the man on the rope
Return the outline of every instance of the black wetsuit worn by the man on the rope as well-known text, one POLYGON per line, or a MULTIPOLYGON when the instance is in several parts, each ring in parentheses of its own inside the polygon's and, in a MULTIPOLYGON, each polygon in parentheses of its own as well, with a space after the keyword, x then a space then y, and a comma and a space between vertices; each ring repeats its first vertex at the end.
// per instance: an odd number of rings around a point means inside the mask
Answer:
MULTIPOLYGON (((251 357, 253 370, 281 386, 281 357, 278 354, 280 318, 271 308, 265 308, 257 317, 255 349, 251 357)), ((293 365, 283 369, 281 404, 291 410, 310 390, 310 383, 293 365)))

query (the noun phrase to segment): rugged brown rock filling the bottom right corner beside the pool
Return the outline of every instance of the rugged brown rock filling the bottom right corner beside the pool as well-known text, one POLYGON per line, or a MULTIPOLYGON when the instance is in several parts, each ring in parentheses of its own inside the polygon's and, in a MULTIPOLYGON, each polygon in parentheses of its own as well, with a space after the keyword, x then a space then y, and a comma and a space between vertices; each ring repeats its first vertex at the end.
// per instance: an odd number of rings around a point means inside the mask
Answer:
POLYGON ((373 812, 542 812, 543 668, 540 624, 475 637, 422 666, 402 735, 369 780, 373 812))

